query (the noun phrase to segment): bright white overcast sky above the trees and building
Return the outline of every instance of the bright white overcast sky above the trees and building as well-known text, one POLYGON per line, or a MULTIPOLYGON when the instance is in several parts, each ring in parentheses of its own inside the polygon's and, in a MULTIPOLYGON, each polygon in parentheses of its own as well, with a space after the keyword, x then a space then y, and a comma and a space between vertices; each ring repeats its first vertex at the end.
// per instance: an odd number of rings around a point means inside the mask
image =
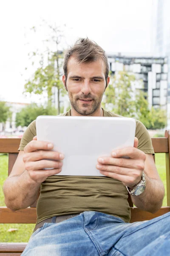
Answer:
MULTIPOLYGON (((48 24, 65 27, 65 44, 79 37, 96 41, 108 53, 149 55, 152 0, 8 0, 0 2, 0 100, 40 102, 24 96, 24 84, 38 66, 28 53, 45 49, 48 24), (30 30, 35 26, 37 32, 30 30), (26 69, 27 68, 27 69, 26 69)), ((52 46, 51 46, 52 47, 52 46)))

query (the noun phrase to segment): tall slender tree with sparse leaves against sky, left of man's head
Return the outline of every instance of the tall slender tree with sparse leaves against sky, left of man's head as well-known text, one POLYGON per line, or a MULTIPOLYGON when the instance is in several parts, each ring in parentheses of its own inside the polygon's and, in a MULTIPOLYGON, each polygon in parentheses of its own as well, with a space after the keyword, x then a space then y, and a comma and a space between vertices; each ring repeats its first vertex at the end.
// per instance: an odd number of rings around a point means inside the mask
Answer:
MULTIPOLYGON (((64 52, 64 49, 62 49, 62 38, 64 36, 60 26, 48 25, 48 28, 51 30, 51 38, 46 39, 45 41, 54 44, 56 49, 52 51, 47 48, 43 54, 40 54, 40 67, 26 82, 25 93, 35 93, 41 95, 43 92, 46 92, 48 95, 48 102, 52 103, 53 88, 56 87, 58 102, 57 107, 58 113, 60 113, 60 95, 63 96, 66 93, 61 81, 64 52), (45 61, 45 55, 47 56, 47 61, 45 61)), ((36 32, 35 27, 32 29, 34 29, 34 32, 36 32)), ((33 52, 32 55, 37 56, 38 53, 33 52)))

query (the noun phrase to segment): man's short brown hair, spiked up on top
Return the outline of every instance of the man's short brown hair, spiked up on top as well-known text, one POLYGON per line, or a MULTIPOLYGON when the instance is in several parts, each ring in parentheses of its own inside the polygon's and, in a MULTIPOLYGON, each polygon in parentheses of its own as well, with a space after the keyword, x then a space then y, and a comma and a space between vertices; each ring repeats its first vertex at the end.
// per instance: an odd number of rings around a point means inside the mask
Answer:
POLYGON ((68 75, 67 64, 71 56, 74 56, 79 63, 93 62, 101 58, 104 61, 106 67, 105 80, 107 85, 109 65, 107 55, 105 54, 105 51, 102 49, 102 47, 88 38, 79 38, 74 46, 71 47, 71 49, 69 49, 65 54, 63 65, 64 74, 66 77, 65 81, 67 80, 68 75))

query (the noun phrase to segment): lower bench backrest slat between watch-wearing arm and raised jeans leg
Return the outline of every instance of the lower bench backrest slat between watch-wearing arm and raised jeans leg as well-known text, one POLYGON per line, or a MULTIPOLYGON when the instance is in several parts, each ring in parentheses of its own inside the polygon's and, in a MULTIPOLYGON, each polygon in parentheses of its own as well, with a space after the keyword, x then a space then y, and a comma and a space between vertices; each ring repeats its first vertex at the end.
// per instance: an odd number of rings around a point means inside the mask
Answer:
POLYGON ((145 212, 134 207, 134 208, 131 208, 130 222, 132 223, 136 221, 149 221, 167 212, 170 212, 170 207, 161 207, 161 209, 156 213, 145 212))

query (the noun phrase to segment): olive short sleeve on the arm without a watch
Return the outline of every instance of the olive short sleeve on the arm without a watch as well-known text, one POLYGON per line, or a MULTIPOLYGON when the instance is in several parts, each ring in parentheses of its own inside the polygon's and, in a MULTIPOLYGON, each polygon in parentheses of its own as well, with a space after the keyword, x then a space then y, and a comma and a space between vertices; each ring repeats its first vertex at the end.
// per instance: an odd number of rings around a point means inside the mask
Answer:
POLYGON ((20 142, 20 147, 18 150, 24 150, 25 146, 34 138, 34 136, 37 135, 36 132, 36 120, 31 122, 30 125, 28 125, 26 131, 23 134, 23 137, 20 142))

